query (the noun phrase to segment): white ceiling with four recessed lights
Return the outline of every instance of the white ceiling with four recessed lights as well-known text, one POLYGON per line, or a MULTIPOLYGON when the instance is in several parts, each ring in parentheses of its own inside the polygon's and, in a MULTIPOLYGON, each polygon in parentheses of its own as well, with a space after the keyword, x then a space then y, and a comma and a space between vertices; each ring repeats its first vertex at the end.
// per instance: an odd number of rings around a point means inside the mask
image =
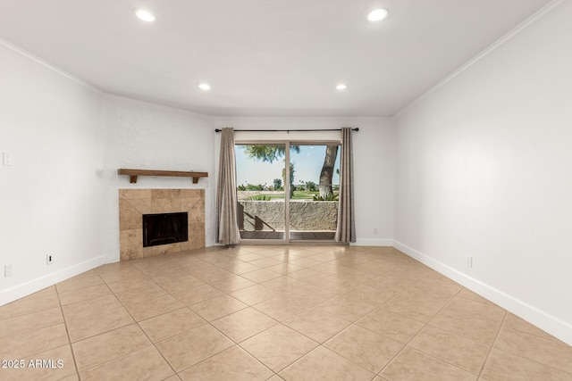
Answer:
POLYGON ((105 92, 195 112, 390 116, 548 3, 0 0, 0 37, 105 92), (378 6, 389 17, 366 21, 378 6))

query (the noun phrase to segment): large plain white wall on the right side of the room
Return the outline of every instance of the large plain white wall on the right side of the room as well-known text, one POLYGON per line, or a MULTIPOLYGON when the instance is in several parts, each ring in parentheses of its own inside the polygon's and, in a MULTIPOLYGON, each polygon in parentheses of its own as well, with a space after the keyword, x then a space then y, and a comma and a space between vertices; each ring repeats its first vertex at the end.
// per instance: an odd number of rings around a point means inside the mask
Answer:
POLYGON ((400 113, 396 219, 399 248, 568 344, 570 20, 568 2, 400 113))

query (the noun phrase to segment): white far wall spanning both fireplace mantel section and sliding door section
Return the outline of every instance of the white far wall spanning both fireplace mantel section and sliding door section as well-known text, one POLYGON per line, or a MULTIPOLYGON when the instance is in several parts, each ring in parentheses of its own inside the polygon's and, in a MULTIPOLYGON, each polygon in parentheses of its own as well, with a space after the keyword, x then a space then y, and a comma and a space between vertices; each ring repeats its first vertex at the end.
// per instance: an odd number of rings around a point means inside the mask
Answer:
MULTIPOLYGON (((206 245, 215 242, 215 186, 220 134, 214 128, 304 129, 358 127, 354 133, 357 244, 390 245, 394 224, 396 132, 385 118, 212 118, 114 95, 105 96, 105 255, 119 261, 119 188, 206 189, 206 245), (139 177, 137 184, 117 175, 119 168, 207 171, 193 185, 189 178, 139 177), (374 228, 377 234, 374 234, 374 228)), ((237 133, 237 139, 267 139, 237 133)), ((273 138, 339 139, 340 133, 307 132, 273 138)))

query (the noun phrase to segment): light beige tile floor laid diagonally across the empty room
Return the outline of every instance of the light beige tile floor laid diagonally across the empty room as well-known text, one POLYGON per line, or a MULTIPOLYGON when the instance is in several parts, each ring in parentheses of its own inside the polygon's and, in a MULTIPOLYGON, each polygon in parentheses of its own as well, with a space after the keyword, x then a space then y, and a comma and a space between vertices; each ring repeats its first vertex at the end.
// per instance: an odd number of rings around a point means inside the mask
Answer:
POLYGON ((572 380, 572 347, 388 247, 114 263, 0 322, 2 380, 572 380))

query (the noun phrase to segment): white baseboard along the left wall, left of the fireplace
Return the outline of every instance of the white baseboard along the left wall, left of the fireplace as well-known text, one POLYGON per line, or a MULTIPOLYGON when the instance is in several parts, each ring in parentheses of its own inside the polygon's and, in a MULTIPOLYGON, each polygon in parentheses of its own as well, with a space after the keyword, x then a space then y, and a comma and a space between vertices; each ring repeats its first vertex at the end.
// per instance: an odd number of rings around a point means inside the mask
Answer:
POLYGON ((95 269, 103 264, 105 264, 105 255, 77 263, 65 269, 60 269, 36 279, 31 279, 21 285, 10 287, 0 292, 0 306, 18 300, 24 296, 28 296, 29 294, 34 294, 39 290, 53 286, 56 283, 62 282, 63 280, 70 277, 80 275, 81 273, 90 269, 95 269))

